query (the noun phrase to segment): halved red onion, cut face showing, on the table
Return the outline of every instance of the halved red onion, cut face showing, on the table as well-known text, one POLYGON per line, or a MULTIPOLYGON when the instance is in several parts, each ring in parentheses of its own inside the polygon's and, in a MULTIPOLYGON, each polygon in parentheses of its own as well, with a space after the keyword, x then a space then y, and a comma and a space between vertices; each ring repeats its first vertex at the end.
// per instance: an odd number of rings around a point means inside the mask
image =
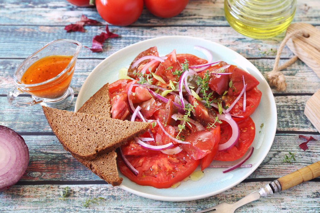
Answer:
POLYGON ((29 163, 29 150, 23 138, 0 125, 0 192, 16 184, 29 163))

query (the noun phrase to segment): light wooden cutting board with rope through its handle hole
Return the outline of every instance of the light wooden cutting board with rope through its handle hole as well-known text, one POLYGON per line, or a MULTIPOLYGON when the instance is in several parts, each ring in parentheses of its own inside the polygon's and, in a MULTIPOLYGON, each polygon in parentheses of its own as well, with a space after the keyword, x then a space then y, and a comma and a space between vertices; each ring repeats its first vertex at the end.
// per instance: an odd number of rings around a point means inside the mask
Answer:
MULTIPOLYGON (((287 34, 296 30, 304 30, 308 36, 294 36, 287 46, 320 78, 320 31, 307 23, 293 23, 288 27, 287 34)), ((320 89, 307 101, 304 114, 320 132, 320 89)))

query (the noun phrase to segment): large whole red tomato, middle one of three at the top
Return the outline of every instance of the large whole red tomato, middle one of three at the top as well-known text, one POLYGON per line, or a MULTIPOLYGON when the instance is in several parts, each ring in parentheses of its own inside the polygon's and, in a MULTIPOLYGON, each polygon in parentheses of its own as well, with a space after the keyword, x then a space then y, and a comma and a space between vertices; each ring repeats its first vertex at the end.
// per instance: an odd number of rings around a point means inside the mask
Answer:
POLYGON ((96 0, 96 7, 101 18, 108 23, 127 26, 141 15, 143 0, 96 0))

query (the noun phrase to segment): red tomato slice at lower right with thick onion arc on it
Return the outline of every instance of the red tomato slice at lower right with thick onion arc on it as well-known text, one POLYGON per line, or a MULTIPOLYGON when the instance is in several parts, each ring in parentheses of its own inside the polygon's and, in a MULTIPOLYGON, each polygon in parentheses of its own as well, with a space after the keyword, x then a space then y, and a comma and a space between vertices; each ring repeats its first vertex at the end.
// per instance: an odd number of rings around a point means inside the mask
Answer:
MULTIPOLYGON (((214 160, 218 161, 235 161, 244 156, 248 148, 251 146, 255 135, 255 125, 249 117, 243 121, 237 122, 240 129, 239 142, 227 151, 218 152, 214 160)), ((223 144, 229 140, 232 134, 230 125, 220 126, 221 139, 219 144, 223 144)))

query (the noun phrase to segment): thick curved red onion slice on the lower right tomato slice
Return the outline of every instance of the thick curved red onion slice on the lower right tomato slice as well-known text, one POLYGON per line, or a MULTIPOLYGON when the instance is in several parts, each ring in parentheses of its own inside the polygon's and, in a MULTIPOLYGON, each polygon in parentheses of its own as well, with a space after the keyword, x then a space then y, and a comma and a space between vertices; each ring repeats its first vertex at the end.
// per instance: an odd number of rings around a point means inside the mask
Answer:
POLYGON ((219 146, 218 146, 218 151, 226 151, 226 150, 232 148, 234 145, 236 145, 236 143, 239 141, 240 130, 239 130, 238 124, 232 118, 227 119, 226 115, 224 115, 224 114, 222 114, 222 115, 218 114, 218 118, 220 120, 226 121, 232 128, 232 135, 231 135, 230 139, 223 144, 219 144, 219 146))

